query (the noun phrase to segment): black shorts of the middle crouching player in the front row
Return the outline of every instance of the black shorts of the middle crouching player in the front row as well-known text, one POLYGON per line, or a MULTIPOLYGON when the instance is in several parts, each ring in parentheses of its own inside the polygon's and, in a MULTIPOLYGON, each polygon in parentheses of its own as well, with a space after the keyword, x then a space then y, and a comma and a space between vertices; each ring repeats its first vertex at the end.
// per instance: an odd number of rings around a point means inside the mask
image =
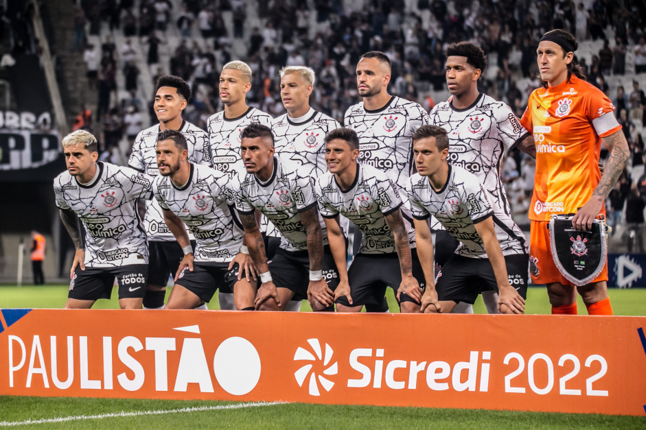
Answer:
MULTIPOLYGON (((332 291, 338 287, 338 270, 330 246, 323 247, 323 279, 332 291)), ((269 262, 269 272, 277 288, 294 291, 292 300, 306 300, 310 285, 310 255, 307 251, 286 251, 278 248, 269 262)))

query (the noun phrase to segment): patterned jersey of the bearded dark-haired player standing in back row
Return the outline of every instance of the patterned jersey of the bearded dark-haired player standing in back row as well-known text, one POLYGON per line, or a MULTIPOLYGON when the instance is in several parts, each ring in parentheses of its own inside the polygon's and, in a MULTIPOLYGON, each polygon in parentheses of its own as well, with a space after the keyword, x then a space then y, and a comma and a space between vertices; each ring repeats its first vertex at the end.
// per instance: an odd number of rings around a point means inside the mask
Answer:
POLYGON ((361 162, 385 171, 402 191, 413 174, 411 137, 428 123, 422 106, 400 97, 391 97, 381 109, 367 110, 361 101, 345 112, 345 126, 359 136, 361 162))

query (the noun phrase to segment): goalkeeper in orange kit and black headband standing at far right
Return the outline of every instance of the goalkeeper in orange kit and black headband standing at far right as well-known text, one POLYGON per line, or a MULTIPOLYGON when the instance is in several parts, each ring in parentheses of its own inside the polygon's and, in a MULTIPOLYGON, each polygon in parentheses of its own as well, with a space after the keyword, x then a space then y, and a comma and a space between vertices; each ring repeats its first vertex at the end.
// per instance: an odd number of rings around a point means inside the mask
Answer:
POLYGON ((576 213, 573 228, 590 228, 605 213, 603 202, 630 155, 610 99, 585 81, 573 61, 577 47, 575 37, 564 30, 543 35, 536 50, 542 88, 531 93, 522 115, 522 126, 533 132, 536 145, 530 272, 534 283, 547 285, 552 313, 576 314, 578 291, 590 315, 612 315, 608 263, 592 283, 575 288, 553 263, 547 230, 550 215, 558 213, 576 213), (598 166, 601 142, 610 152, 603 175, 598 166))

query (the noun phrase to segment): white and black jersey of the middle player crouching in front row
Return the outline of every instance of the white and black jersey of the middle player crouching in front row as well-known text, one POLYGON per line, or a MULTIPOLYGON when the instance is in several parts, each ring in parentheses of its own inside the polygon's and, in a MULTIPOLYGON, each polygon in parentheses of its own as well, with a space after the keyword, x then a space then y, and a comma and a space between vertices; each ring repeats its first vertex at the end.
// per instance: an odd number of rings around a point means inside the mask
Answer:
MULTIPOLYGON (((235 208, 244 215, 257 209, 265 215, 281 233, 280 247, 287 251, 308 249, 308 237, 301 223, 301 212, 316 208, 314 178, 308 170, 295 163, 274 157, 271 178, 262 184, 255 174, 238 177, 238 195, 235 208)), ((327 230, 319 215, 323 230, 323 243, 327 245, 327 230)))

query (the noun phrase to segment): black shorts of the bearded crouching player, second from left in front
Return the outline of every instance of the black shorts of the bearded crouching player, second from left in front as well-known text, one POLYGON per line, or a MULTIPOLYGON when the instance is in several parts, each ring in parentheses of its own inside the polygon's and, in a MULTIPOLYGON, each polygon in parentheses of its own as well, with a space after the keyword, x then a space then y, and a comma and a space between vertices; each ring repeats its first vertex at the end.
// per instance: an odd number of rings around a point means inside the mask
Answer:
POLYGON ((220 293, 233 293, 233 285, 238 282, 238 269, 238 263, 229 270, 229 263, 194 262, 193 272, 184 267, 175 283, 203 302, 209 302, 216 289, 220 289, 220 293))

